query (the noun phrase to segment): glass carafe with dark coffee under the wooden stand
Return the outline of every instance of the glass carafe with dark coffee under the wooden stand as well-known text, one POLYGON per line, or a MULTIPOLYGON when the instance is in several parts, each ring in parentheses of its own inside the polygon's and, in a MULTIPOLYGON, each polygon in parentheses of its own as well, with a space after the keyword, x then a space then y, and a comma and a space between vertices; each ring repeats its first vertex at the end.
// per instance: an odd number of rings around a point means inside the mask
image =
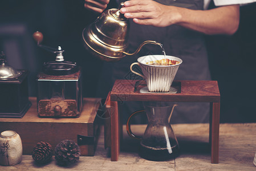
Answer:
POLYGON ((132 133, 130 121, 133 116, 144 111, 134 112, 129 117, 127 121, 127 133, 129 136, 140 140, 139 154, 141 157, 147 160, 165 161, 178 156, 178 141, 170 125, 170 117, 175 106, 176 104, 165 107, 145 105, 148 125, 143 137, 136 136, 132 133))

